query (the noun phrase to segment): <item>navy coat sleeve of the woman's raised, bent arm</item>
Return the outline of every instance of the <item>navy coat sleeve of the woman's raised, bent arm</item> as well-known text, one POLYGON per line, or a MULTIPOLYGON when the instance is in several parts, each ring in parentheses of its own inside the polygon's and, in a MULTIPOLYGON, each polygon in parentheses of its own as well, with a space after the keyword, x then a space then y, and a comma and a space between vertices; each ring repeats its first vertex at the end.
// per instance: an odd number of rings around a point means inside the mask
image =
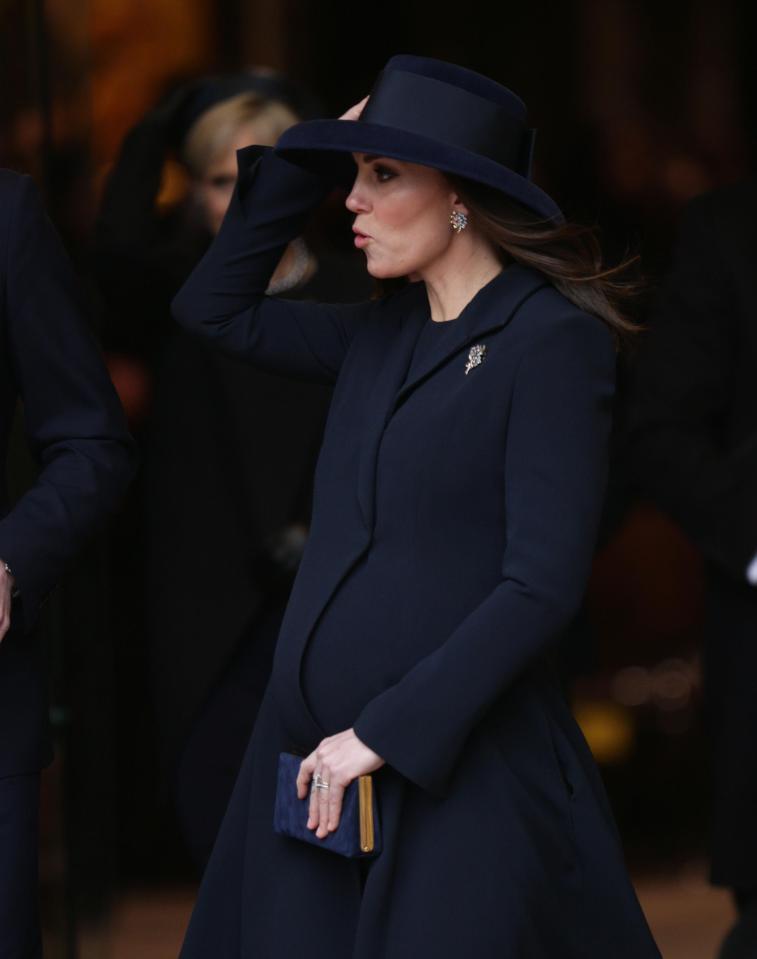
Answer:
POLYGON ((266 296, 290 240, 330 184, 271 147, 238 151, 239 176, 224 222, 174 298, 190 332, 270 372, 330 383, 372 304, 313 303, 266 296))

